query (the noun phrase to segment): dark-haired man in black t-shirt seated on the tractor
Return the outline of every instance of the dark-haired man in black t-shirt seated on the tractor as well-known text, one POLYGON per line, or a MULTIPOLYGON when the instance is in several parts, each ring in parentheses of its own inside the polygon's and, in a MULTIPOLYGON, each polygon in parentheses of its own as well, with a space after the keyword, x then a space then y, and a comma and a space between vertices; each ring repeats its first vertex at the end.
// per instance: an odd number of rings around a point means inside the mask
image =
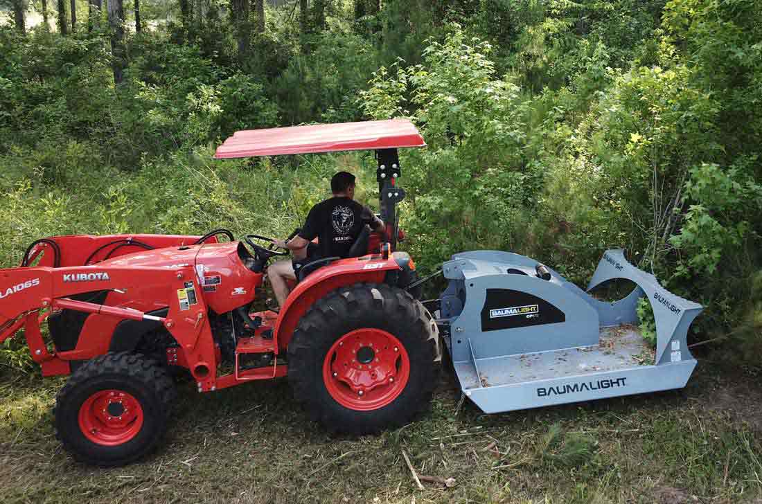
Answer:
POLYGON ((273 286, 279 307, 283 306, 289 295, 287 281, 296 280, 295 266, 324 257, 349 257, 352 244, 365 225, 373 231, 383 231, 381 219, 367 206, 354 201, 354 188, 354 175, 339 171, 331 177, 333 197, 312 207, 299 234, 288 242, 274 241, 277 247, 288 248, 293 253, 293 261, 278 261, 267 268, 267 278, 273 286), (311 243, 315 238, 318 238, 318 244, 311 243))

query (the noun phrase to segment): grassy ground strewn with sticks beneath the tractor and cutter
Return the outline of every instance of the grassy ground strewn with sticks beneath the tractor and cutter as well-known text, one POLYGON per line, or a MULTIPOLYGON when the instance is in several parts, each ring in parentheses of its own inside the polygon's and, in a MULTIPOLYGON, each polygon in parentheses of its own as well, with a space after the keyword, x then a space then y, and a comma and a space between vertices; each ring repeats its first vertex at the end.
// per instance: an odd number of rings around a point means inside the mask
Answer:
POLYGON ((285 381, 181 387, 165 445, 129 467, 73 462, 53 435, 61 379, 0 378, 3 502, 739 502, 762 490, 762 393, 712 374, 684 391, 487 416, 450 378, 431 413, 332 438, 285 381), (735 394, 735 395, 734 395, 735 394), (735 406, 734 406, 735 405, 735 406), (417 490, 419 475, 456 480, 417 490))

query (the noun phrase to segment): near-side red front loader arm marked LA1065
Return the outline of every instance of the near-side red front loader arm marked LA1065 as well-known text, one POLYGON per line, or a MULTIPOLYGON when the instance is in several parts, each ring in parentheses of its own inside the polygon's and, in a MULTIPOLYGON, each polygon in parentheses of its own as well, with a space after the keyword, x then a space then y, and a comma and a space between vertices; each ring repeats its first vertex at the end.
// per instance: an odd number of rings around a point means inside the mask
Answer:
POLYGON ((47 348, 40 324, 51 311, 66 309, 122 320, 158 321, 179 343, 178 350, 199 387, 208 390, 215 380, 216 354, 200 292, 197 274, 190 265, 174 269, 103 264, 0 270, 0 343, 24 328, 30 355, 41 365, 43 375, 66 375, 77 352, 51 352, 47 348), (155 317, 129 305, 108 306, 71 298, 104 290, 151 292, 155 296, 152 304, 168 308, 167 315, 155 317), (201 337, 204 332, 207 334, 201 337))

